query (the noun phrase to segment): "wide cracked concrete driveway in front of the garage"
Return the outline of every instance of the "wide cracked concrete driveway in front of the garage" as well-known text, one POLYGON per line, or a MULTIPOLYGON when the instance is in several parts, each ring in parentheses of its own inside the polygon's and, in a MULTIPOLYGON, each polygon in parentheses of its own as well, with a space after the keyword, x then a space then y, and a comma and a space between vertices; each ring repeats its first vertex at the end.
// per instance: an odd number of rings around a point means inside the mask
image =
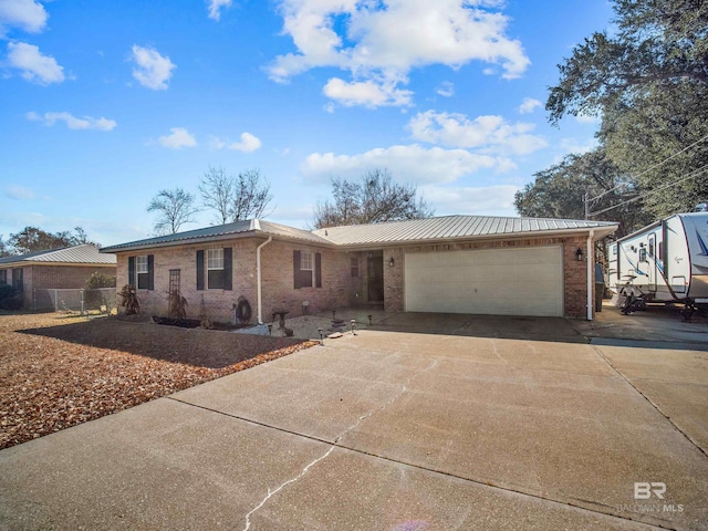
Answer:
POLYGON ((667 346, 387 316, 0 451, 0 529, 708 529, 708 353, 667 346))

